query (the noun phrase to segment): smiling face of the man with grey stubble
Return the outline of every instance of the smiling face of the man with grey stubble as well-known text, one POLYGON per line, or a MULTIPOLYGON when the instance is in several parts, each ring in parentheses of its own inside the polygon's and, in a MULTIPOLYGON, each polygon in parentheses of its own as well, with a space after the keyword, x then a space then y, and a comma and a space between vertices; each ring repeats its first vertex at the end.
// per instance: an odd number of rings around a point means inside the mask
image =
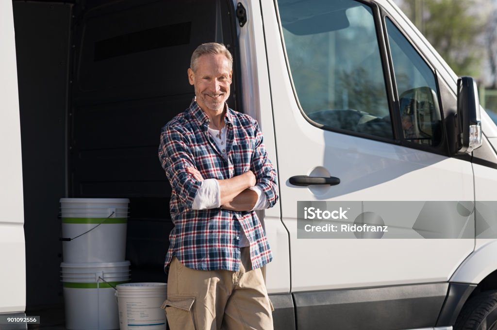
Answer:
POLYGON ((232 70, 224 55, 202 55, 197 59, 196 71, 188 69, 188 80, 195 87, 197 103, 204 111, 223 111, 230 96, 232 70))

